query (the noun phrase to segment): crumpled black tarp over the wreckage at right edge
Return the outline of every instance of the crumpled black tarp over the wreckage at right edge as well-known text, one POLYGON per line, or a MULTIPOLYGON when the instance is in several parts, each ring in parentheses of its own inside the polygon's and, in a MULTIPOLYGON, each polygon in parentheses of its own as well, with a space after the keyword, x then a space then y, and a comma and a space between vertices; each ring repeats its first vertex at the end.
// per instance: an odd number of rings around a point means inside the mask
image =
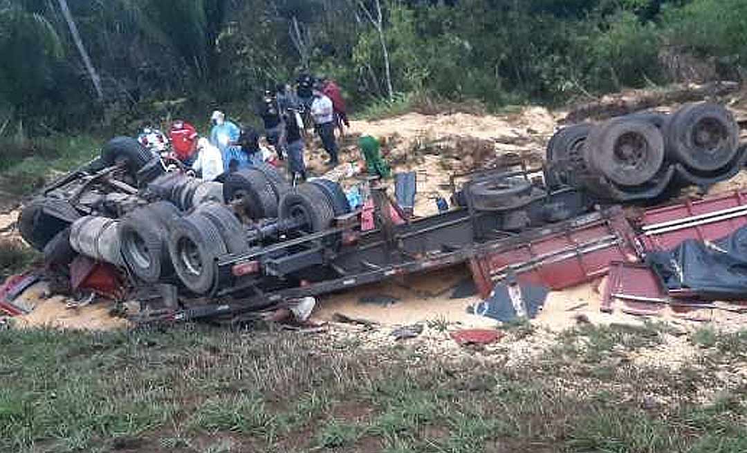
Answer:
POLYGON ((646 262, 668 290, 690 290, 704 300, 747 299, 747 227, 715 243, 686 240, 646 262))

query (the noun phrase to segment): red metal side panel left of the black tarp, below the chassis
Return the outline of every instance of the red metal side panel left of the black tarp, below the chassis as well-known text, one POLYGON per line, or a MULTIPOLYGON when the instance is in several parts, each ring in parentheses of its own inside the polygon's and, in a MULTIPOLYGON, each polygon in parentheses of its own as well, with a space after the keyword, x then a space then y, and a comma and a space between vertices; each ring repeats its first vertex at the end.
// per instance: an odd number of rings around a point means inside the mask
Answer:
MULTIPOLYGON (((612 261, 636 260, 630 245, 632 228, 622 216, 601 219, 560 233, 518 244, 510 249, 478 255, 477 287, 490 287, 514 273, 527 284, 562 290, 605 275, 612 261), (490 281, 486 281, 487 279, 490 281)), ((477 269, 473 265, 473 270, 477 269)), ((487 296, 482 293, 482 296, 487 296)))

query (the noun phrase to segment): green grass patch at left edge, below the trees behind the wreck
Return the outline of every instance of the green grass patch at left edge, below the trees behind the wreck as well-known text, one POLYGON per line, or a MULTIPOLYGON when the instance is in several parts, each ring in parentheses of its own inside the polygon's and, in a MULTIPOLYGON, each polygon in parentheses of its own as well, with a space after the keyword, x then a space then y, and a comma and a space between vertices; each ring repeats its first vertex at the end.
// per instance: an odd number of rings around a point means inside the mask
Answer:
POLYGON ((99 155, 103 140, 81 135, 26 140, 4 139, 0 190, 16 196, 39 189, 55 173, 69 172, 99 155))

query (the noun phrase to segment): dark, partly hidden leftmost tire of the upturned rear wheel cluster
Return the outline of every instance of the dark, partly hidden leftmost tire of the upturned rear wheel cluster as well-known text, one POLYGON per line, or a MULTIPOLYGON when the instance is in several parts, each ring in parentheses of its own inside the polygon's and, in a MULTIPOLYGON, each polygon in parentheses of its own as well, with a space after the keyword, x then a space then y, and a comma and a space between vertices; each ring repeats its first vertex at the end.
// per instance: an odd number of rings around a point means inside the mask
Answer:
POLYGON ((591 130, 591 124, 581 123, 562 128, 553 135, 545 154, 545 161, 551 167, 548 186, 571 184, 571 173, 583 172, 583 143, 591 130))

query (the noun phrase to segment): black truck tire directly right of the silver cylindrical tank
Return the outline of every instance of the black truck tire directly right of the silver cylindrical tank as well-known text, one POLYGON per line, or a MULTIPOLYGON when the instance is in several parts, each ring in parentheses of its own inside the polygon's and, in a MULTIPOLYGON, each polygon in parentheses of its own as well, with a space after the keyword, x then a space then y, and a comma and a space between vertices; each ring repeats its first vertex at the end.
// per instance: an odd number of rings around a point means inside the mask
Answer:
POLYGON ((130 271, 146 283, 173 273, 168 240, 181 212, 169 201, 156 201, 129 213, 120 227, 122 255, 130 271))

